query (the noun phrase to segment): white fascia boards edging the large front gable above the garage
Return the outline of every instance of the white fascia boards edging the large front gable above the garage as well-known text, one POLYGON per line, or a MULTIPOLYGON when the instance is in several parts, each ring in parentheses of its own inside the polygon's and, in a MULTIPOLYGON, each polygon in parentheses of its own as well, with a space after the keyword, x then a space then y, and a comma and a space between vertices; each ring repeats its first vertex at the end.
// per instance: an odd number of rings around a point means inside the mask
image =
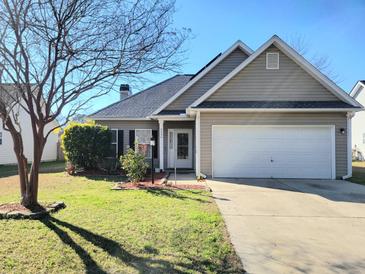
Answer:
POLYGON ((345 91, 339 88, 335 83, 333 83, 328 77, 321 73, 317 68, 315 68, 311 63, 309 63, 305 58, 298 54, 295 50, 289 47, 284 41, 282 41, 278 36, 274 35, 268 41, 266 41, 261 47, 259 47, 255 53, 249 56, 245 61, 243 61, 238 67, 227 74, 223 79, 221 79, 217 84, 215 84, 210 90, 193 102, 189 107, 196 107, 209 96, 211 96, 217 89, 223 86, 227 81, 233 78, 246 66, 248 66, 253 60, 255 60, 260 54, 262 54, 269 46, 274 44, 284 53, 289 55, 293 61, 295 61, 301 68, 303 68, 307 73, 309 73, 314 79, 319 81, 322 85, 327 87, 338 98, 343 101, 358 107, 362 107, 354 98, 348 95, 345 91))

